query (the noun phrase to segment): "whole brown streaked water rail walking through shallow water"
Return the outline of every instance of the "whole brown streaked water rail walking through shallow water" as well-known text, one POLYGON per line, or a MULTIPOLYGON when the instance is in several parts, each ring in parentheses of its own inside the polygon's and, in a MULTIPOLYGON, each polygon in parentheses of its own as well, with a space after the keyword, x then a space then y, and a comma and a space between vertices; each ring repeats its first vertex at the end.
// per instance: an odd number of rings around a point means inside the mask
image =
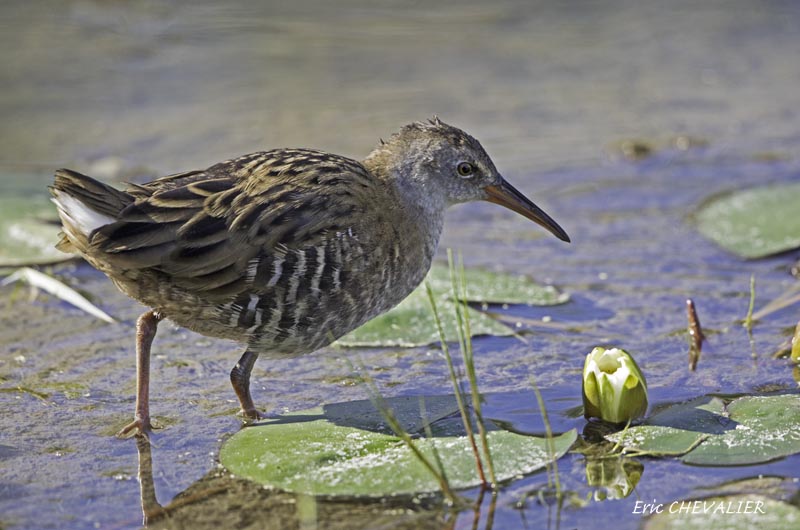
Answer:
POLYGON ((150 347, 163 318, 246 344, 230 379, 253 420, 259 354, 312 352, 400 303, 430 268, 448 206, 493 202, 569 241, 475 138, 438 118, 361 162, 274 149, 124 191, 60 169, 50 192, 58 248, 152 308, 137 321, 136 409, 119 436, 152 428, 150 347))

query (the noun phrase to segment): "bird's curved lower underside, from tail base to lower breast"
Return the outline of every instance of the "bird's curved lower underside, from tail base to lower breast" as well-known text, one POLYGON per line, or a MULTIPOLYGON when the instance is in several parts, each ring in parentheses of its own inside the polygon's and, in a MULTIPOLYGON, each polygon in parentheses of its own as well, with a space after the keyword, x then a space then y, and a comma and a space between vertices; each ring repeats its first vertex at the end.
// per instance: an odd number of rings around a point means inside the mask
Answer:
POLYGON ((172 282, 143 282, 140 277, 135 286, 116 283, 179 326, 246 343, 260 354, 296 356, 326 346, 396 306, 422 281, 430 260, 417 260, 413 270, 381 265, 342 271, 335 288, 312 291, 303 282, 283 282, 222 302, 172 282))

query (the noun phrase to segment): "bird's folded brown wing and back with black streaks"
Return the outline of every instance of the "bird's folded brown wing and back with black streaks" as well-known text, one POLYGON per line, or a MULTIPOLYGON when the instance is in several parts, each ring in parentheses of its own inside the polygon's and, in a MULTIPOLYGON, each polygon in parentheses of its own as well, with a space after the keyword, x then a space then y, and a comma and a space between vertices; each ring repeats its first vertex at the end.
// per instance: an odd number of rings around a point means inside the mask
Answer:
POLYGON ((153 269, 224 299, 253 288, 246 271, 254 258, 346 230, 372 184, 360 163, 344 157, 254 153, 136 186, 129 191, 136 201, 92 244, 121 268, 153 269))

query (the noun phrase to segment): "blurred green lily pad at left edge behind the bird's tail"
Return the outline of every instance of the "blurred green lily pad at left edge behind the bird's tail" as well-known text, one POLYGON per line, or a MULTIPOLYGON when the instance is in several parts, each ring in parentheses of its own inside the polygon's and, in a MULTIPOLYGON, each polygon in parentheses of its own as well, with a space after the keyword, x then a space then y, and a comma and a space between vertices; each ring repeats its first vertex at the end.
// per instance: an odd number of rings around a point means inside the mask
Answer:
POLYGON ((0 197, 0 266, 45 265, 71 259, 56 250, 55 208, 43 195, 0 197))

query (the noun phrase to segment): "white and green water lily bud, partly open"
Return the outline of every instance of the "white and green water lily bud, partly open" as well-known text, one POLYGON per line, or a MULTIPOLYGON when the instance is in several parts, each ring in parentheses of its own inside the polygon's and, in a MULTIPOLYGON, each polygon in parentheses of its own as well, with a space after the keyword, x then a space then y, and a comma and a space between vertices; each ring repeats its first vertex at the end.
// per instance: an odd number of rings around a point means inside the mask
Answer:
POLYGON ((597 347, 583 365, 583 413, 627 423, 647 412, 647 381, 628 352, 597 347))

